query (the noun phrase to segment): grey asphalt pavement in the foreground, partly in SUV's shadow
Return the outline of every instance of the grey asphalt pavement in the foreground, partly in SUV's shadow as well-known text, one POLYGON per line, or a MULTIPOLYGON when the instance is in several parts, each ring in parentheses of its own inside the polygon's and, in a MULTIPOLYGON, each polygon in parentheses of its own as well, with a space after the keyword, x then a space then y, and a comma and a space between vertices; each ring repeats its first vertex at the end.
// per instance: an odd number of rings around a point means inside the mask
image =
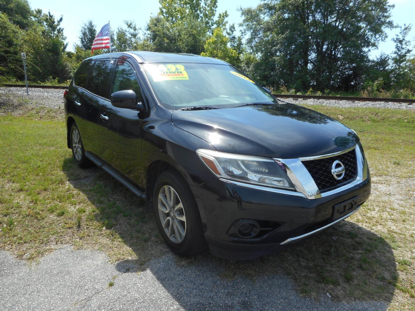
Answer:
POLYGON ((286 275, 253 281, 225 279, 210 260, 176 264, 171 253, 146 269, 131 261, 111 264, 100 251, 71 246, 28 265, 0 251, 2 310, 386 310, 379 301, 337 302, 300 297, 286 275), (114 282, 113 286, 109 286, 114 282))

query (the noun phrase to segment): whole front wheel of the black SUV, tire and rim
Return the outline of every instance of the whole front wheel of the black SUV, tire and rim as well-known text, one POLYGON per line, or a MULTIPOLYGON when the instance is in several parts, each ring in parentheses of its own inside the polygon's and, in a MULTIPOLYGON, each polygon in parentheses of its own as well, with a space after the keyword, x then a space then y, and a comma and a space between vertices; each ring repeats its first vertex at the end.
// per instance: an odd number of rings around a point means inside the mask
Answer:
POLYGON ((153 204, 157 226, 174 253, 190 256, 207 249, 196 201, 181 175, 172 170, 160 174, 153 204))

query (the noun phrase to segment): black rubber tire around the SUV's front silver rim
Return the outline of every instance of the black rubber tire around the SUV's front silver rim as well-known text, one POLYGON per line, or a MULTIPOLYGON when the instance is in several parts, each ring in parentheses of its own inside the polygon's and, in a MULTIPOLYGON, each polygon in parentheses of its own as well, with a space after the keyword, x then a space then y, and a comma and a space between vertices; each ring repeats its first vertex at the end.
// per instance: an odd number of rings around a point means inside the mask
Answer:
MULTIPOLYGON (((174 204, 172 205, 174 206, 174 204)), ((178 206, 178 204, 176 204, 176 206, 178 206)), ((159 227, 161 236, 163 236, 163 239, 166 242, 167 246, 174 253, 176 253, 179 256, 187 257, 203 253, 205 250, 207 250, 207 243, 205 241, 205 236, 203 235, 202 221, 200 220, 198 206, 186 180, 179 173, 173 170, 168 170, 159 175, 154 185, 153 207, 154 217, 156 219, 157 226, 159 227), (171 238, 168 237, 168 234, 166 233, 161 223, 162 216, 160 216, 159 214, 159 194, 161 193, 160 191, 162 190, 162 188, 164 188, 164 186, 172 187, 178 195, 178 200, 180 200, 183 204, 183 214, 186 218, 186 232, 184 234, 183 240, 179 243, 178 240, 180 239, 176 239, 176 242, 173 242, 171 238)), ((168 212, 162 211, 161 213, 165 213, 165 216, 170 215, 170 218, 175 217, 168 212)), ((166 230, 168 230, 168 228, 166 228, 166 230)))

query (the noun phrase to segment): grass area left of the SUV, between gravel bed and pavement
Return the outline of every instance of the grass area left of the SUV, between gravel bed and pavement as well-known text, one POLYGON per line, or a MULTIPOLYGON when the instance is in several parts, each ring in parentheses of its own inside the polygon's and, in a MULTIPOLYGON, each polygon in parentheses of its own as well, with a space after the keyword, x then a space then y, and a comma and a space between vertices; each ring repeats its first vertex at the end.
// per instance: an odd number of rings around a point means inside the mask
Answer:
POLYGON ((73 162, 63 121, 3 116, 0 141, 1 248, 34 260, 72 244, 144 262, 165 250, 143 202, 98 168, 73 162))

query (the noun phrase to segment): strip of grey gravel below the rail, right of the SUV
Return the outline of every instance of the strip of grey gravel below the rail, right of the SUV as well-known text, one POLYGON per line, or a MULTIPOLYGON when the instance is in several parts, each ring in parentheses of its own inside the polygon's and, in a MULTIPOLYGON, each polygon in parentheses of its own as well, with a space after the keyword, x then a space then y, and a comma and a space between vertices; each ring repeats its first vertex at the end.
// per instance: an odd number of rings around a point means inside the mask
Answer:
POLYGON ((374 107, 374 108, 391 108, 391 109, 413 109, 415 111, 415 104, 408 104, 404 102, 361 102, 351 100, 317 100, 308 98, 279 98, 284 102, 291 102, 293 104, 309 104, 309 105, 325 105, 333 107, 374 107))

